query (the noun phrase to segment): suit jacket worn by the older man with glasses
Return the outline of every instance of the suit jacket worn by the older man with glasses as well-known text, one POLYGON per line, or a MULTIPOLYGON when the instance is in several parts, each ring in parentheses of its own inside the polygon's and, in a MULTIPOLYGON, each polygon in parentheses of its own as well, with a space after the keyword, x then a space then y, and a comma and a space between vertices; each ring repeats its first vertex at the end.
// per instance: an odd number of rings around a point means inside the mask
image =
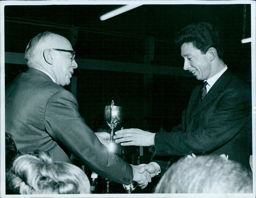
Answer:
POLYGON ((74 95, 39 70, 28 69, 6 88, 5 131, 22 153, 39 149, 63 162, 72 153, 100 176, 132 183, 131 165, 100 143, 79 114, 74 95))

